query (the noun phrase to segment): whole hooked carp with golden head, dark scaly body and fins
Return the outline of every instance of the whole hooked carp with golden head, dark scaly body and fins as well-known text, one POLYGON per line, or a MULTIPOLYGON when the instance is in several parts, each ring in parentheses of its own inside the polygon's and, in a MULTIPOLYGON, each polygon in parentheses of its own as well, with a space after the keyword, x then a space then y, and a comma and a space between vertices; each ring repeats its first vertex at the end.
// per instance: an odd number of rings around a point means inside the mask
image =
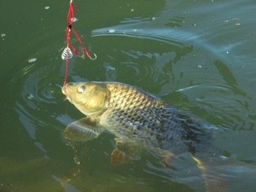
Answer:
POLYGON ((221 150, 212 145, 212 129, 190 113, 124 83, 67 83, 61 91, 86 116, 66 127, 66 140, 85 142, 104 130, 113 133, 113 164, 132 161, 148 148, 161 154, 164 168, 168 168, 177 156, 189 153, 204 175, 207 191, 221 191, 218 189, 226 185, 225 179, 212 182, 212 164, 223 158, 221 150))

